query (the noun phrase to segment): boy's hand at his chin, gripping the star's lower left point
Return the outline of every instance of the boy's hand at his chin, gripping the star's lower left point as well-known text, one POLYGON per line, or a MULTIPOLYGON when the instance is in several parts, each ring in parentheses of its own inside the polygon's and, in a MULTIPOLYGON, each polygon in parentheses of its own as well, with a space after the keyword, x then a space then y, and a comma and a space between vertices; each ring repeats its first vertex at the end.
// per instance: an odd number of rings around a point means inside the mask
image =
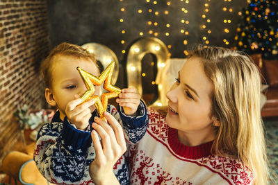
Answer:
POLYGON ((79 130, 85 130, 85 128, 88 127, 89 119, 92 116, 92 109, 90 109, 90 107, 95 104, 95 100, 89 100, 82 104, 80 103, 81 98, 77 98, 67 103, 65 114, 70 123, 76 125, 76 128, 79 130))

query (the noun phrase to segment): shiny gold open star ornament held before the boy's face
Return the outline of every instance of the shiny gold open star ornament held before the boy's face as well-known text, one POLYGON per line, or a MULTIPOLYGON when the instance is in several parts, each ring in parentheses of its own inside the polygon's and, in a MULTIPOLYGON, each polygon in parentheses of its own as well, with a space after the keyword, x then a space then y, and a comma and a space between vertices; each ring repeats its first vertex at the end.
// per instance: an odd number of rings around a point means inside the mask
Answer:
POLYGON ((99 77, 93 76, 91 73, 84 71, 80 67, 77 67, 85 86, 87 87, 87 91, 85 94, 81 96, 82 103, 87 100, 95 99, 95 107, 97 108, 97 112, 99 113, 100 118, 104 119, 104 112, 106 111, 108 99, 115 98, 119 96, 121 89, 111 85, 113 69, 115 67, 115 62, 111 62, 111 64, 106 67, 106 69, 101 73, 99 77), (101 100, 99 96, 93 96, 95 93, 94 85, 101 85, 104 82, 104 89, 108 92, 101 94, 101 100))

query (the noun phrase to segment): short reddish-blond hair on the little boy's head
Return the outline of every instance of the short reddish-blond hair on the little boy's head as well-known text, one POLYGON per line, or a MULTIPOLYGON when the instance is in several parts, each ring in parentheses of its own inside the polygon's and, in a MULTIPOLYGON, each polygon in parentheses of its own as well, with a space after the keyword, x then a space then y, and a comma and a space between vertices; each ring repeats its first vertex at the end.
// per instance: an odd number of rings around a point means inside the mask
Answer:
MULTIPOLYGON (((47 56, 47 58, 42 61, 42 64, 40 66, 40 71, 42 73, 42 76, 44 78, 44 83, 46 87, 51 87, 52 82, 52 68, 57 62, 56 57, 60 55, 66 55, 66 56, 72 56, 74 58, 83 58, 85 60, 94 62, 97 64, 97 61, 95 59, 95 55, 92 53, 89 53, 85 49, 83 49, 81 46, 75 45, 75 44, 69 44, 67 42, 63 42, 62 44, 59 44, 56 46, 47 56)), ((98 67, 98 66, 97 66, 98 67)))

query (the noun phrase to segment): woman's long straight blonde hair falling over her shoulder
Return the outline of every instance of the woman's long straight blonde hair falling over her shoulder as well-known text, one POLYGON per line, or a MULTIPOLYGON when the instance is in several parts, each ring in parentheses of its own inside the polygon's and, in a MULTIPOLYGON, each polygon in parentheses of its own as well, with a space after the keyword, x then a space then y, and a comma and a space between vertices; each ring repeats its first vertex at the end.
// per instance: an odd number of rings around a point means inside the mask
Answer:
POLYGON ((192 56, 202 58, 214 85, 211 114, 219 119, 220 127, 211 152, 236 157, 254 172, 255 184, 267 184, 259 69, 244 53, 220 47, 198 46, 192 56))

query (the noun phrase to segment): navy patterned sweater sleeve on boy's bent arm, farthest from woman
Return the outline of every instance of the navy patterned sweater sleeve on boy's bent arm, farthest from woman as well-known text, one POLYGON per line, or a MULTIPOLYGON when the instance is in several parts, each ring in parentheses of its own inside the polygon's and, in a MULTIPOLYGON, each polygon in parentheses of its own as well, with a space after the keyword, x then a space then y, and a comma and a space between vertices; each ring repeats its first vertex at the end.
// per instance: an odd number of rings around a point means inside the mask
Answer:
POLYGON ((79 184, 91 144, 90 132, 75 129, 66 117, 63 123, 47 123, 35 143, 35 164, 49 182, 79 184))

